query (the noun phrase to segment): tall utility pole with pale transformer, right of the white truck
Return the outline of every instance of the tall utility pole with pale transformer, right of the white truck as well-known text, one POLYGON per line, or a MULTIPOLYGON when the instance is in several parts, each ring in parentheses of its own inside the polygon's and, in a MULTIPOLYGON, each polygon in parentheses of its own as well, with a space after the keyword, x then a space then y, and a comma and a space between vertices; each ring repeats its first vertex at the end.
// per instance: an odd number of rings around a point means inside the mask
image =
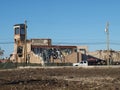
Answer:
POLYGON ((105 28, 105 32, 106 32, 106 44, 107 44, 107 65, 110 65, 110 57, 109 57, 109 45, 110 45, 110 40, 109 40, 109 22, 107 22, 106 24, 106 28, 105 28))

